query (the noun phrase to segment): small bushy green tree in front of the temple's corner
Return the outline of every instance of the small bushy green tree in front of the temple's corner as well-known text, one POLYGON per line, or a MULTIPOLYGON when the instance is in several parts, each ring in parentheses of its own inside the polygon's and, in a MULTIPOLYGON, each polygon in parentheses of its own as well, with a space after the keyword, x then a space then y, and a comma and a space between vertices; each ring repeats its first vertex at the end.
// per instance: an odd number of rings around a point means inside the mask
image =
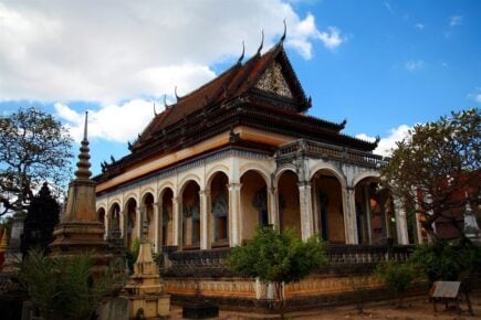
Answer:
POLYGON ((278 233, 271 227, 258 227, 252 241, 234 247, 228 257, 232 271, 273 284, 281 307, 283 284, 300 281, 325 263, 318 236, 302 242, 293 230, 278 233))

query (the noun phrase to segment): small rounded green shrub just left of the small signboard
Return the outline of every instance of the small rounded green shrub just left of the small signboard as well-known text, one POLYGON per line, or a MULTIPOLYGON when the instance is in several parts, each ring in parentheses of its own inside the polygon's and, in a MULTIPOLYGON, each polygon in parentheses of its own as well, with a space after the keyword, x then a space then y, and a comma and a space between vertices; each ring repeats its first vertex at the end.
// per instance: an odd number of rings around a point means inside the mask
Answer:
POLYGON ((417 270, 409 263, 383 262, 376 266, 375 276, 381 280, 398 299, 398 307, 402 307, 402 295, 409 288, 417 275, 417 270))

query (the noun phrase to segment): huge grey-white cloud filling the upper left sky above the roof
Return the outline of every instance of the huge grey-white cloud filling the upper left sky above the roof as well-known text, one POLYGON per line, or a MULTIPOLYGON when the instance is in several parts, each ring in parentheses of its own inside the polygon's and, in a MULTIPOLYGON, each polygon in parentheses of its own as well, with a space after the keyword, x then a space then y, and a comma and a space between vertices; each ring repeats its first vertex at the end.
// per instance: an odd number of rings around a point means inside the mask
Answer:
POLYGON ((304 58, 321 42, 344 39, 320 30, 284 0, 2 1, 0 102, 127 99, 190 92, 215 76, 213 64, 276 42, 286 19, 286 46, 304 58))

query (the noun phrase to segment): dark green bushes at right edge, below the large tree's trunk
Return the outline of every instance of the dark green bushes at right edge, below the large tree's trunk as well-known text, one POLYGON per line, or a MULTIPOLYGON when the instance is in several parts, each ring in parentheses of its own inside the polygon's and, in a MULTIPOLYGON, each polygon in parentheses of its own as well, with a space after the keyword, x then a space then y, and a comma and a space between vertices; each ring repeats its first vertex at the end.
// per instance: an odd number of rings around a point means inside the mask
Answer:
POLYGON ((410 257, 432 284, 437 280, 454 281, 481 268, 481 247, 450 244, 419 245, 410 257))

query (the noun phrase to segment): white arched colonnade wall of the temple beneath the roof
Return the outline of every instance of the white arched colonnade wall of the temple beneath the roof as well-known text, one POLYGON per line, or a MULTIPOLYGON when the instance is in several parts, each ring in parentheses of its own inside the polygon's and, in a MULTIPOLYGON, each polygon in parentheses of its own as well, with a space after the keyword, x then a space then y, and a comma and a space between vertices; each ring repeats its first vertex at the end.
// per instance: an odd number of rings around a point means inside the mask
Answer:
MULTIPOLYGON (((186 151, 187 152, 187 151, 186 151)), ((280 166, 276 158, 264 154, 251 153, 250 151, 224 152, 219 156, 213 154, 207 159, 182 164, 179 169, 167 170, 144 180, 130 184, 121 185, 111 190, 108 193, 100 195, 96 200, 97 211, 104 209, 107 221, 109 220, 111 209, 114 204, 121 207, 121 228, 123 235, 126 233, 126 212, 127 202, 135 200, 137 203, 135 227, 133 238, 139 237, 140 213, 145 212, 143 200, 147 194, 153 196, 154 218, 151 223, 158 224, 150 230, 149 238, 158 252, 164 245, 178 245, 182 235, 182 206, 191 205, 194 194, 185 195, 186 185, 194 181, 198 185, 200 201, 200 236, 207 241, 200 241, 201 248, 209 248, 213 244, 215 217, 212 215, 212 201, 220 192, 229 193, 229 244, 233 246, 242 239, 249 239, 253 235, 255 225, 259 224, 259 210, 252 205, 254 192, 263 188, 264 180, 268 193, 269 223, 282 226, 294 227, 303 238, 312 236, 318 232, 318 194, 315 190, 326 190, 331 199, 328 204, 328 237, 332 243, 356 244, 358 242, 358 231, 356 221, 356 203, 359 195, 355 195, 356 184, 366 178, 375 179, 378 172, 372 168, 362 167, 354 163, 342 163, 324 158, 294 158, 290 163, 280 166), (216 177, 222 172, 227 175, 226 181, 216 182, 216 177), (243 181, 242 177, 255 172, 258 181, 243 181), (322 179, 315 181, 316 174, 325 174, 337 179, 335 188, 324 185, 322 179), (261 180, 262 179, 262 180, 261 180), (213 184, 212 184, 213 182, 213 184), (220 185, 221 183, 222 185, 220 185), (317 183, 316 186, 314 184, 317 183), (353 184, 356 183, 356 184, 353 184), (226 185, 223 185, 226 184, 226 185), (227 188, 227 189, 223 189, 227 188), (301 188, 302 192, 301 192, 301 188), (335 189, 335 190, 334 190, 335 189), (170 190, 171 199, 171 221, 167 226, 167 237, 170 239, 163 244, 161 233, 161 194, 170 190), (222 191, 223 190, 223 191, 222 191), (186 196, 182 204, 182 196, 186 196), (281 201, 280 201, 281 200, 281 201), (202 202, 203 201, 203 202, 202 202), (232 202, 233 201, 233 202, 232 202), (302 204, 302 209, 301 209, 302 204), (206 212, 206 210, 210 210, 206 212), (301 212, 302 211, 302 212, 301 212), (302 214, 301 214, 302 213, 302 214), (205 218, 202 220, 202 214, 205 218), (205 228, 202 228, 205 225, 205 228), (309 230, 306 230, 306 227, 309 230), (155 230, 157 228, 157 231, 155 230), (202 233, 203 232, 203 233, 202 233)), ((132 172, 132 174, 136 174, 132 172)), ((252 178, 251 178, 252 179, 252 178)), ((254 180, 255 180, 254 179, 254 180)), ((197 194, 196 194, 197 196, 197 194)), ((107 227, 108 224, 106 224, 107 227)), ((187 218, 187 243, 191 244, 194 223, 191 217, 187 218)), ((196 226, 198 227, 198 226, 196 226)), ((364 227, 364 226, 363 226, 364 227)), ((365 227, 364 227, 365 228, 365 227)))

